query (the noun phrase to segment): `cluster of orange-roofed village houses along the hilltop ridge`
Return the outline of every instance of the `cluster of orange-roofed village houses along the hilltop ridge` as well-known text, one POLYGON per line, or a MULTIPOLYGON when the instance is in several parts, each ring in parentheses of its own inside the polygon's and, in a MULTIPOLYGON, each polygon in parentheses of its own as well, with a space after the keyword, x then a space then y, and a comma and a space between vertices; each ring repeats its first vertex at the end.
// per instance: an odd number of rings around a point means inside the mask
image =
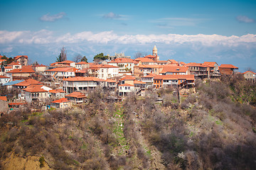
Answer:
MULTIPOLYGON (((176 60, 159 60, 156 46, 152 55, 132 60, 124 53, 109 56, 100 62, 73 62, 65 60, 49 66, 28 65, 28 56, 18 55, 5 64, 0 56, 0 83, 7 89, 18 89, 18 97, 8 101, 9 108, 24 103, 33 103, 46 108, 70 108, 86 101, 93 89, 100 87, 114 98, 123 98, 130 93, 145 95, 146 89, 176 86, 190 89, 195 79, 220 79, 222 74, 235 74, 238 67, 216 62, 184 63, 176 60), (38 81, 41 80, 41 81, 38 81), (43 81, 42 81, 43 80, 43 81)), ((255 81, 254 72, 242 73, 245 79, 255 81)), ((1 96, 0 101, 6 101, 1 96)))

